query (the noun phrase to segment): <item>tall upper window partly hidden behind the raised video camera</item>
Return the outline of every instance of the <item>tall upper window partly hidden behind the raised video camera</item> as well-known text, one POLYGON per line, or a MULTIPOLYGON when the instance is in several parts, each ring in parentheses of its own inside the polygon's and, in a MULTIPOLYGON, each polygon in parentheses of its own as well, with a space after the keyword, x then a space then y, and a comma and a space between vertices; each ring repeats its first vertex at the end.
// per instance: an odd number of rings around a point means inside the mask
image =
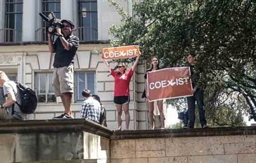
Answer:
MULTIPOLYGON (((50 12, 53 12, 55 15, 55 18, 60 19, 60 0, 42 0, 42 12, 44 15, 48 16, 50 12)), ((47 32, 46 32, 46 22, 42 20, 42 28, 38 29, 37 32, 39 32, 42 36, 42 40, 40 41, 47 41, 47 32)), ((38 37, 38 36, 37 36, 38 37)))

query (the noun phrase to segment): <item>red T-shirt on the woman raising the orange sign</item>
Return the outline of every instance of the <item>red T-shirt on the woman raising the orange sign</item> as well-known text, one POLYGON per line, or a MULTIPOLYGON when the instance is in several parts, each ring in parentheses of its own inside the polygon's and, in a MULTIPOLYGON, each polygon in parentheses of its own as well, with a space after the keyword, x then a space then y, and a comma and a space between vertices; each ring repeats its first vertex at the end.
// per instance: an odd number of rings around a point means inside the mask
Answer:
POLYGON ((125 74, 118 74, 111 69, 111 75, 114 77, 114 96, 129 96, 129 84, 133 70, 125 72, 125 74))

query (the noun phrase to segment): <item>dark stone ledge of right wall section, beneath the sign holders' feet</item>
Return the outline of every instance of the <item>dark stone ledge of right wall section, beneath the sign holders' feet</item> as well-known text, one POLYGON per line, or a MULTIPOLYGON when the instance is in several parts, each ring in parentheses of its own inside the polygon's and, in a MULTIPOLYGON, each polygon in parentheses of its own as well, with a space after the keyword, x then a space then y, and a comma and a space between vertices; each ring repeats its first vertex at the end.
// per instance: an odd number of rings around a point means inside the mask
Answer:
POLYGON ((245 127, 213 127, 171 129, 171 130, 137 130, 137 131, 114 131, 111 140, 140 139, 140 138, 175 138, 195 136, 228 136, 228 135, 255 135, 256 126, 245 127))

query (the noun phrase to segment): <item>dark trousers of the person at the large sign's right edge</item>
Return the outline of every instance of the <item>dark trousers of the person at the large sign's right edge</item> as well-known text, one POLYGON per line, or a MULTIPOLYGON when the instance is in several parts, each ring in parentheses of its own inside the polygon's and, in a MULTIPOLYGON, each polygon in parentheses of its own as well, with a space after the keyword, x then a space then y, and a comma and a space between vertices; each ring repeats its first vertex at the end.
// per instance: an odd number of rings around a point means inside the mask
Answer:
POLYGON ((201 126, 207 124, 205 119, 205 108, 204 108, 204 93, 200 89, 197 89, 194 96, 187 97, 188 101, 188 127, 193 128, 195 123, 195 103, 199 108, 199 120, 201 126))

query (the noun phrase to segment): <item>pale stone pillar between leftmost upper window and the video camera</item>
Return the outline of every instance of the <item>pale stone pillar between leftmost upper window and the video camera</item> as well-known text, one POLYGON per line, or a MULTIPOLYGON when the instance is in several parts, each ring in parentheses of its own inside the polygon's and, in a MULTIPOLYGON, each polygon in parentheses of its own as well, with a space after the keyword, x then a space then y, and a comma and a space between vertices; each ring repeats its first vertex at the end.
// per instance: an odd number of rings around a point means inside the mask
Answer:
POLYGON ((23 0, 22 41, 35 41, 36 16, 36 1, 23 0))

